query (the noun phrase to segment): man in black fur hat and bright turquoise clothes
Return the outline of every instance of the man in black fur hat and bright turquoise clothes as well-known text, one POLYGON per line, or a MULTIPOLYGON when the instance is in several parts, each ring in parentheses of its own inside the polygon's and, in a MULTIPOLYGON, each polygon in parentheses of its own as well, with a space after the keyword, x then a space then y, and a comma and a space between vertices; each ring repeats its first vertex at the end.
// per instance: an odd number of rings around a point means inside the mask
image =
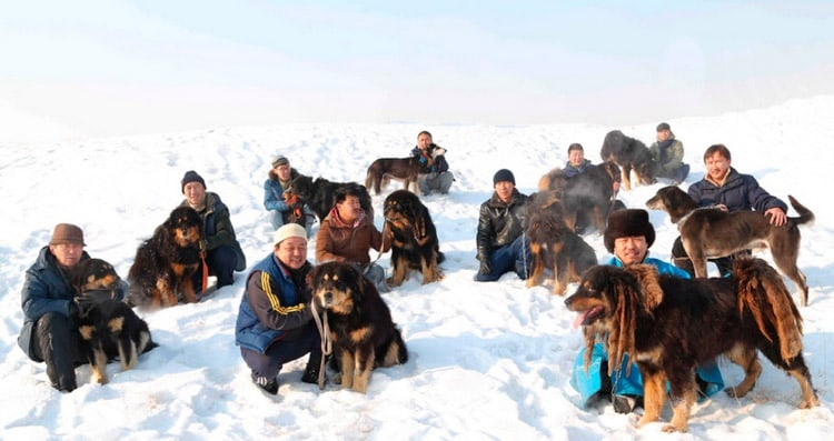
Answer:
MULTIPOLYGON (((619 268, 651 264, 661 274, 689 279, 686 271, 648 257, 648 249, 655 241, 655 229, 648 221, 646 210, 625 209, 610 213, 603 241, 608 252, 614 254, 606 264, 619 268)), ((643 405, 643 377, 637 364, 632 364, 631 374, 626 374, 626 368, 631 363, 628 357, 623 359, 623 364, 619 369, 614 369, 610 375, 608 354, 600 341, 594 344, 587 371, 585 357, 583 348, 576 357, 570 377, 570 385, 579 392, 584 405, 593 404, 598 399, 610 399, 617 413, 629 413, 635 407, 643 405)), ((695 372, 704 395, 709 397, 724 389, 724 379, 715 362, 701 365, 695 372)))

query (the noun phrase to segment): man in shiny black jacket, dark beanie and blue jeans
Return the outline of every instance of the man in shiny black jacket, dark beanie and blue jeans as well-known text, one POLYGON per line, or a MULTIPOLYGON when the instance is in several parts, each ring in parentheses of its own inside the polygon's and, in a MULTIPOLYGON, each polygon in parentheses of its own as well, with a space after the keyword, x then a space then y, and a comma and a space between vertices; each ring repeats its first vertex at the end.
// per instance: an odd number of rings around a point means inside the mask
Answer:
POLYGON ((533 263, 529 239, 525 234, 527 196, 516 189, 516 178, 507 169, 495 173, 493 188, 492 198, 480 204, 478 214, 475 241, 480 265, 475 281, 492 282, 509 271, 526 280, 533 263))

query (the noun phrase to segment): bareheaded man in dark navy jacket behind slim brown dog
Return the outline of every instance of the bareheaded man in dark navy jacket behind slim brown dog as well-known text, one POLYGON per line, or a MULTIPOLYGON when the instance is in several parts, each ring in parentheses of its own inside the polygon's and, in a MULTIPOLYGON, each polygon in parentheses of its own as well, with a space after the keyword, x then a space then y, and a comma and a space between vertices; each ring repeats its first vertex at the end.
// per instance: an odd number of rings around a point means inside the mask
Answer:
MULTIPOLYGON (((771 223, 781 227, 787 221, 787 206, 778 198, 771 196, 765 189, 758 187, 758 181, 749 174, 738 173, 731 167, 732 157, 729 149, 724 144, 709 146, 704 152, 704 164, 706 174, 704 179, 689 186, 689 197, 701 207, 717 207, 725 211, 762 211, 771 223)), ((749 250, 742 251, 749 254, 749 250)), ((692 275, 695 270, 692 260, 686 254, 684 245, 678 237, 672 245, 672 257, 675 267, 678 267, 692 275)), ((733 257, 709 259, 718 267, 722 275, 729 273, 733 267, 733 257)))

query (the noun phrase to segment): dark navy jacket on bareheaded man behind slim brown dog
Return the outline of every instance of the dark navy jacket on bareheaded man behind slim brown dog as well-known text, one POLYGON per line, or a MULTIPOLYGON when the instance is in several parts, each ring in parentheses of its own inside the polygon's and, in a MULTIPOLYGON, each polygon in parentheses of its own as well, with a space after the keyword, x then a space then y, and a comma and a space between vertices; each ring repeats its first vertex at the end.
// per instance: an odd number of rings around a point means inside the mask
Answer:
POLYGON ((778 207, 787 212, 785 202, 758 187, 756 178, 749 174, 738 173, 734 168, 731 168, 724 184, 721 187, 707 178, 693 183, 687 191, 689 197, 701 207, 723 203, 731 212, 765 211, 778 207))

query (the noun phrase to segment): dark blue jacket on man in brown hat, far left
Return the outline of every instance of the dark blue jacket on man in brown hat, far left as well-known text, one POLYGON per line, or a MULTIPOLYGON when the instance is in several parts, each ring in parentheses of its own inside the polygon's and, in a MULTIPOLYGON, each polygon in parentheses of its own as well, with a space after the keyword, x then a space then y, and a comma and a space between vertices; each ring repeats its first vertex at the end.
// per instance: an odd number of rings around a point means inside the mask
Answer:
MULTIPOLYGON (((87 251, 81 254, 81 261, 89 258, 87 251)), ((18 345, 30 359, 38 362, 43 361, 38 360, 32 352, 34 322, 47 312, 57 312, 69 317, 73 294, 72 284, 61 271, 58 260, 49 251, 49 247, 41 248, 38 260, 26 271, 23 289, 20 292, 21 307, 23 308, 23 328, 18 335, 18 345)))

